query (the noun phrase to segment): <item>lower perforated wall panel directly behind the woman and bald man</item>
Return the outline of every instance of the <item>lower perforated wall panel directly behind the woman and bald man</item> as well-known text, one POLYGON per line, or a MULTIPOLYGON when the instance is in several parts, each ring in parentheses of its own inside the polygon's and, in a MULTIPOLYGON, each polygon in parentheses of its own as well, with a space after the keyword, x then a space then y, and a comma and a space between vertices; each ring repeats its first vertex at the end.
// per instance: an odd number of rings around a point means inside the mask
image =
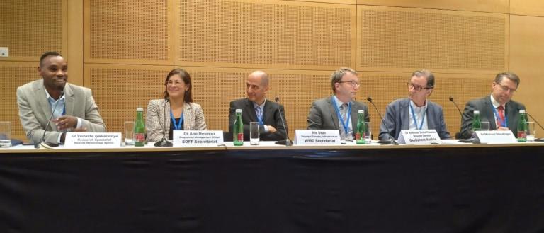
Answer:
MULTIPOLYGON (((109 132, 121 132, 125 120, 135 119, 138 106, 162 98, 164 79, 172 67, 86 64, 86 86, 93 90, 109 132), (89 81, 87 81, 89 80, 89 81)), ((229 102, 246 97, 246 77, 253 69, 187 67, 193 100, 203 106, 208 130, 228 130, 229 102)), ((306 128, 312 101, 332 95, 327 72, 266 70, 271 77, 268 99, 285 106, 290 135, 306 128), (312 88, 305 88, 305 87, 312 88)))

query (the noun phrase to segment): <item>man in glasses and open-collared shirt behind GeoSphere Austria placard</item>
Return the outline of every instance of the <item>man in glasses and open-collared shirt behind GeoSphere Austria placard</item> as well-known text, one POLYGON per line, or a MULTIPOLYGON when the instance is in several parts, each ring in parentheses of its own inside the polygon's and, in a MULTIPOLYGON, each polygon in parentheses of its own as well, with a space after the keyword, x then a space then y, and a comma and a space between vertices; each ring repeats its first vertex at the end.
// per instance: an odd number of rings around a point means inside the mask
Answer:
POLYGON ((436 130, 441 139, 449 139, 442 107, 427 100, 434 89, 433 73, 418 70, 412 73, 407 86, 408 98, 399 98, 387 105, 380 125, 380 140, 388 140, 392 135, 399 139, 401 130, 436 130))

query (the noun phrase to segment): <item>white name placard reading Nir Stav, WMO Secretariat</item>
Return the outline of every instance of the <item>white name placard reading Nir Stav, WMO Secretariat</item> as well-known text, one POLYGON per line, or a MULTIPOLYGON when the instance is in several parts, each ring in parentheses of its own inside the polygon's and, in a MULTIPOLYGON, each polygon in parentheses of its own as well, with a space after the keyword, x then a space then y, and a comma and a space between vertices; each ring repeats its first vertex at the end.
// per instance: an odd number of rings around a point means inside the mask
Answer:
POLYGON ((338 130, 295 130, 295 144, 340 144, 338 130))

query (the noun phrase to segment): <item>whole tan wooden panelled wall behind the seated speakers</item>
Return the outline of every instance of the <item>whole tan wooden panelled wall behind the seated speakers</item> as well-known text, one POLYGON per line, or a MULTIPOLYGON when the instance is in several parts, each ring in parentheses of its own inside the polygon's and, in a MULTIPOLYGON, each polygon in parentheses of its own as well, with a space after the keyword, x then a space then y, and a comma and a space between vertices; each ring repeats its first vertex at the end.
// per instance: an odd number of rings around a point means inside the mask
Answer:
MULTIPOLYGON (((544 3, 538 0, 5 0, 0 2, 0 120, 23 138, 16 87, 39 79, 42 52, 69 61, 69 80, 88 86, 108 131, 122 131, 135 108, 161 98, 170 69, 193 79, 193 98, 210 130, 227 130, 229 101, 244 98, 246 76, 271 75, 268 98, 285 105, 290 135, 304 129, 310 103, 331 96, 329 75, 353 67, 358 101, 378 108, 407 96, 416 69, 436 74, 431 101, 448 130, 461 108, 489 94, 494 74, 521 76, 514 99, 544 121, 544 3)), ((370 110, 376 135, 380 120, 370 110)), ((538 137, 544 137, 539 130, 538 137)))

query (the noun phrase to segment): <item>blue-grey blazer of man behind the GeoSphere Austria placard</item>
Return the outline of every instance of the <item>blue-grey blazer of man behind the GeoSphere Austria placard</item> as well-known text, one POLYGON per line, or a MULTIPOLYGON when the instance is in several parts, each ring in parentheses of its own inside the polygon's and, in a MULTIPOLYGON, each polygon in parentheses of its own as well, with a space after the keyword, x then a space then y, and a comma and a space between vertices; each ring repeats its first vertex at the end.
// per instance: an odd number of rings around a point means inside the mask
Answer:
MULTIPOLYGON (((391 135, 395 135, 395 139, 399 138, 401 130, 409 130, 410 128, 410 99, 399 98, 385 109, 385 119, 380 125, 380 140, 387 140, 391 136, 387 133, 387 129, 391 135)), ((429 130, 436 130, 441 139, 449 139, 450 132, 446 128, 442 106, 427 100, 427 127, 429 130)))

